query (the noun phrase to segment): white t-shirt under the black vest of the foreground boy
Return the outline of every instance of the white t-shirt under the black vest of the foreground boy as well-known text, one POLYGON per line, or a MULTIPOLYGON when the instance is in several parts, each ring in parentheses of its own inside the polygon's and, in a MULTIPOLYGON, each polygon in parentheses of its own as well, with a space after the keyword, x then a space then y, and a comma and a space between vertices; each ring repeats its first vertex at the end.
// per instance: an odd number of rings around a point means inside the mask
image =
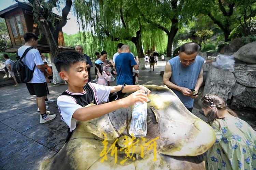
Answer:
MULTIPOLYGON (((94 91, 94 96, 96 98, 97 104, 101 104, 103 102, 108 101, 111 86, 103 86, 95 83, 88 83, 88 84, 94 91)), ((85 88, 84 88, 84 92, 82 93, 72 93, 68 90, 66 90, 66 92, 72 95, 86 94, 85 88)), ((69 126, 70 131, 73 131, 76 128, 76 122, 78 121, 77 119, 72 118, 73 114, 78 108, 82 108, 82 106, 77 104, 76 100, 72 96, 63 96, 63 95, 57 98, 57 105, 61 115, 61 120, 63 120, 69 126)))

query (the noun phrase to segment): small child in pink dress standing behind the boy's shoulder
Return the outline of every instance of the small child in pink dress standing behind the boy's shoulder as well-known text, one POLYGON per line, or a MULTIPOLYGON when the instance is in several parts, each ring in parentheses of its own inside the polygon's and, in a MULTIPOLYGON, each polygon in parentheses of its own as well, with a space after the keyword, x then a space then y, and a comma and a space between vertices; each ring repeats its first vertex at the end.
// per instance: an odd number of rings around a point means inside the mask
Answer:
POLYGON ((111 76, 106 73, 106 70, 108 69, 106 67, 109 67, 109 66, 102 67, 101 64, 95 64, 95 66, 98 70, 97 75, 99 77, 98 81, 97 81, 97 84, 108 86, 108 81, 109 82, 112 81, 111 76))

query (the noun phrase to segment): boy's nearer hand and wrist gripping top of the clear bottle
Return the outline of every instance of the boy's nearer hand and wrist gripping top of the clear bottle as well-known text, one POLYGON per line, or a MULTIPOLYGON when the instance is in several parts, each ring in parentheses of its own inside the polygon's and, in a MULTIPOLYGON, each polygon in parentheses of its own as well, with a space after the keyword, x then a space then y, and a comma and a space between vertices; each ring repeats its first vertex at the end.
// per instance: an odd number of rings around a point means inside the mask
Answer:
POLYGON ((147 96, 143 90, 138 90, 122 100, 122 107, 127 108, 136 102, 147 102, 147 96))

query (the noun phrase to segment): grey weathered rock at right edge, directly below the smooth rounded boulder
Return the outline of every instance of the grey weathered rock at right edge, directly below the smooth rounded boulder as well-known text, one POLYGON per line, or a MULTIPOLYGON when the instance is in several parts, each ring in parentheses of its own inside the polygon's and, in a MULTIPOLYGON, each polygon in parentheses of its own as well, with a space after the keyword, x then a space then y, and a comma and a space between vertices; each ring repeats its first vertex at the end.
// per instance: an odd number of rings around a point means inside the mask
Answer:
POLYGON ((247 87, 256 87, 256 67, 235 67, 234 76, 237 82, 247 87))

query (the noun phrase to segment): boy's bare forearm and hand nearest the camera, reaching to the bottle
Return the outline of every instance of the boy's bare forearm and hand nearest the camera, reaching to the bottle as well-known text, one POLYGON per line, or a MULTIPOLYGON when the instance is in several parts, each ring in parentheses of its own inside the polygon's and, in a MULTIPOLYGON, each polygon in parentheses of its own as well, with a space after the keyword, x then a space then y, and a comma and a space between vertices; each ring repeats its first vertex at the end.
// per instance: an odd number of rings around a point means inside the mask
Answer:
POLYGON ((87 121, 105 115, 109 112, 115 111, 119 108, 129 107, 136 102, 144 101, 147 102, 147 97, 143 93, 143 91, 140 90, 120 100, 91 107, 79 108, 74 112, 73 118, 81 121, 87 121))

